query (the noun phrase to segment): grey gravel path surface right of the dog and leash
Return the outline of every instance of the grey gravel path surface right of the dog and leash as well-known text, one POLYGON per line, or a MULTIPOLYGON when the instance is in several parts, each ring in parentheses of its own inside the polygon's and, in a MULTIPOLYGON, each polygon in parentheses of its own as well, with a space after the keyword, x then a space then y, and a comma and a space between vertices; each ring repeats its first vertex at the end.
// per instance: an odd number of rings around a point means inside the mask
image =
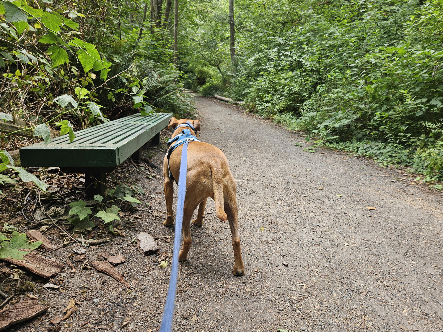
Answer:
POLYGON ((177 331, 443 330, 441 196, 341 152, 303 152, 296 134, 214 99, 198 111, 237 180, 246 275, 232 276, 229 227, 207 215, 177 331))

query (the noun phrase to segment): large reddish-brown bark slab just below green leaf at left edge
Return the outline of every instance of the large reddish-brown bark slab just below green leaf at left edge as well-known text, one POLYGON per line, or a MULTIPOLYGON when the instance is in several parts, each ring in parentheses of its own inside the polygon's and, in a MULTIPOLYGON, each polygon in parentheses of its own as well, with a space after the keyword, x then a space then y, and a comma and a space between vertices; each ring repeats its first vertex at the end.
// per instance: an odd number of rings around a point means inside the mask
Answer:
POLYGON ((3 261, 28 269, 43 278, 51 278, 62 272, 65 265, 53 259, 45 258, 32 251, 22 256, 24 259, 2 258, 3 261))

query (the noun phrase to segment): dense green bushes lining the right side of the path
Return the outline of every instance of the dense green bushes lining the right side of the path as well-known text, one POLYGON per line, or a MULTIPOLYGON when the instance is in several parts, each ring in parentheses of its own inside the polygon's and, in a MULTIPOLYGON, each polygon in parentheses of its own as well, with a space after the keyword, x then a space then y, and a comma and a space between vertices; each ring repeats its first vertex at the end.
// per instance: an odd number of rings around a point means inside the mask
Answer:
POLYGON ((234 61, 225 5, 202 14, 185 85, 442 189, 442 5, 236 1, 234 61))

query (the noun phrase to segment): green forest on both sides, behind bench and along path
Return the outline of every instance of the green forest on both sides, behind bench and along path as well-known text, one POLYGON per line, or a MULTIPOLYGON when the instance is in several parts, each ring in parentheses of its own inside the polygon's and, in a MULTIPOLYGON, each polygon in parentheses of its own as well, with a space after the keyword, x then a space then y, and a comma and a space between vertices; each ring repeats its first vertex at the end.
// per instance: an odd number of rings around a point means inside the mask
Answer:
POLYGON ((442 0, 1 4, 0 111, 29 126, 192 116, 185 89, 217 93, 442 189, 442 0))

